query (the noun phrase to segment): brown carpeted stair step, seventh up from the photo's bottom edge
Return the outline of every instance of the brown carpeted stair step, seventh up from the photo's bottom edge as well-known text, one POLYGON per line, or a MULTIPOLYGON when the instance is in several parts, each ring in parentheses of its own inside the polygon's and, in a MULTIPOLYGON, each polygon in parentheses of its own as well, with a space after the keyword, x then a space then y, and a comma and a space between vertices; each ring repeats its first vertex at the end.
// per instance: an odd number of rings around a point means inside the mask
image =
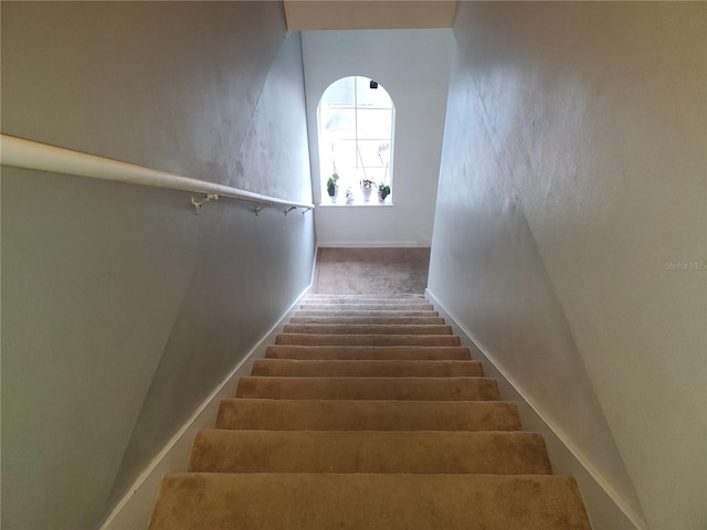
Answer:
POLYGON ((307 335, 281 333, 277 344, 293 346, 461 346, 455 335, 307 335))

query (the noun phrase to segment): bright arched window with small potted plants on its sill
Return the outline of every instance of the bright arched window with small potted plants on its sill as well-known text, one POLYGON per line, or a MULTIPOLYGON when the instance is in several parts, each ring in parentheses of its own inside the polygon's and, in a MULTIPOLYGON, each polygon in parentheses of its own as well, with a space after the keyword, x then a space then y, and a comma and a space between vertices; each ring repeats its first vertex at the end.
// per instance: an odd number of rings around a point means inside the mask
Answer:
POLYGON ((395 107, 386 88, 368 77, 336 81, 317 121, 321 203, 392 203, 395 107))

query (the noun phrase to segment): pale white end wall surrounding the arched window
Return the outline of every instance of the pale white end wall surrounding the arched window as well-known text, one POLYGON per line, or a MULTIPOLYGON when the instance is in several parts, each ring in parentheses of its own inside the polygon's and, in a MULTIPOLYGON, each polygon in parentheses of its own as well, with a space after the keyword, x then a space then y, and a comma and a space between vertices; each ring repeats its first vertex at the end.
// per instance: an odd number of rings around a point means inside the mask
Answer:
POLYGON ((452 57, 451 30, 315 31, 303 33, 302 40, 317 203, 316 113, 327 86, 341 77, 363 75, 384 86, 395 105, 394 205, 323 205, 316 212, 317 243, 429 246, 452 57))

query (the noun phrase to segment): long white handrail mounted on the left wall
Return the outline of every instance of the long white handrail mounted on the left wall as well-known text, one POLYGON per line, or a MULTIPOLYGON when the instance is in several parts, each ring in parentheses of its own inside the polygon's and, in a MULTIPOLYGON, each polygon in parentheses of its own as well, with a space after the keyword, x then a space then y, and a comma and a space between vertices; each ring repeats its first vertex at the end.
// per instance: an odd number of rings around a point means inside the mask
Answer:
MULTIPOLYGON (((74 174, 93 179, 112 180, 127 184, 149 186, 169 190, 190 191, 207 195, 229 197, 255 202, 262 206, 282 205, 314 210, 314 204, 287 201, 275 197, 239 190, 230 186, 181 174, 145 168, 135 163, 49 146, 14 136, 0 135, 0 162, 3 166, 34 169, 53 173, 74 174)), ((257 209, 256 211, 260 211, 257 209)))

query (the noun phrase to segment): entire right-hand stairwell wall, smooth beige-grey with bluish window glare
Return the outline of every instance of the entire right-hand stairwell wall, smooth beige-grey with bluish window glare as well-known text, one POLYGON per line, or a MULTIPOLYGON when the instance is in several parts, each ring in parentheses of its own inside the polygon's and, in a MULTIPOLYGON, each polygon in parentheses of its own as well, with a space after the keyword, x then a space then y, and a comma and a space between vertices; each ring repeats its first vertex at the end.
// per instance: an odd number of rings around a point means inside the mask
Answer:
POLYGON ((706 14, 462 2, 432 245, 431 290, 659 530, 707 524, 706 14))

